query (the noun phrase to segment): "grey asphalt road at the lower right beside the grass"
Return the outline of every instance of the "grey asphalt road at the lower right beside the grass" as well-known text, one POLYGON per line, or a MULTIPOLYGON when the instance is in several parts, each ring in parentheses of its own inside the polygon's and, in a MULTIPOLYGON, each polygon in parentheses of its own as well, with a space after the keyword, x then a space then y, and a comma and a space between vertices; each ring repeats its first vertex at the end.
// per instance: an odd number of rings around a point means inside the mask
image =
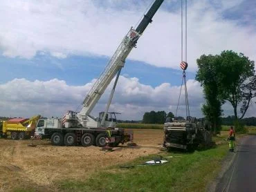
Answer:
MULTIPOLYGON (((230 152, 232 153, 232 152, 230 152)), ((256 135, 241 139, 231 155, 232 164, 223 174, 216 191, 256 191, 256 135)))

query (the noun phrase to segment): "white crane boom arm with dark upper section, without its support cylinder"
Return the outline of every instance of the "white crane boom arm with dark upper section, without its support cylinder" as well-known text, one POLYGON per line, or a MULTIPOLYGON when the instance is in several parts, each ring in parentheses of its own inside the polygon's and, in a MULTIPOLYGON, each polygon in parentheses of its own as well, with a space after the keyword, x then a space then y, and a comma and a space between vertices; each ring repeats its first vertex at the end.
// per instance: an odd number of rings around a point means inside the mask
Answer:
POLYGON ((127 35, 125 35, 124 39, 122 39, 120 46, 118 46, 118 49, 111 57, 106 68, 104 68, 104 71, 95 81, 88 95, 84 99, 83 108, 80 111, 81 115, 89 115, 89 113, 91 113, 95 104, 97 104, 98 100, 106 90, 107 86, 109 86, 113 77, 115 77, 118 70, 125 65, 125 59, 129 55, 129 52, 131 52, 132 48, 136 46, 140 35, 142 35, 148 24, 152 22, 152 17, 161 6, 161 3, 163 3, 163 0, 154 1, 151 8, 149 8, 147 11, 147 14, 140 21, 136 30, 131 28, 127 35))

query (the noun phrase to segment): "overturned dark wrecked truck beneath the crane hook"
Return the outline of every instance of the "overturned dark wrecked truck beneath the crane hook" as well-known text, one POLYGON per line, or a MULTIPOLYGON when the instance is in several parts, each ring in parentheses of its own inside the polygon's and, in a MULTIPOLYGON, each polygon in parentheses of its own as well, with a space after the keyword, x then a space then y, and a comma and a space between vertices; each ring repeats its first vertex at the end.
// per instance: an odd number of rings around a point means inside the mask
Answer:
POLYGON ((203 120, 197 121, 196 118, 191 118, 190 121, 167 119, 164 134, 163 146, 167 149, 192 150, 200 144, 209 146, 212 143, 210 126, 203 120))

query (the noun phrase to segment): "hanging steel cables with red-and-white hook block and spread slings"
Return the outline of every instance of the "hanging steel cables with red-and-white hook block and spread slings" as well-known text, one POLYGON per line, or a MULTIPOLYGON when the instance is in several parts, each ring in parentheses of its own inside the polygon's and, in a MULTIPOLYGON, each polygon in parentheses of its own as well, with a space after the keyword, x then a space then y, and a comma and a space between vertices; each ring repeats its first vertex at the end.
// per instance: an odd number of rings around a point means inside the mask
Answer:
MULTIPOLYGON (((183 86, 184 81, 184 87, 185 87, 185 106, 186 106, 186 117, 190 117, 190 107, 188 103, 188 89, 185 79, 185 70, 188 67, 187 63, 187 0, 185 0, 185 59, 183 60, 183 0, 181 0, 181 68, 183 69, 183 78, 181 82, 181 89, 183 86)), ((177 117, 177 111, 179 107, 179 101, 181 98, 181 89, 179 93, 179 100, 176 108, 175 117, 177 117)))

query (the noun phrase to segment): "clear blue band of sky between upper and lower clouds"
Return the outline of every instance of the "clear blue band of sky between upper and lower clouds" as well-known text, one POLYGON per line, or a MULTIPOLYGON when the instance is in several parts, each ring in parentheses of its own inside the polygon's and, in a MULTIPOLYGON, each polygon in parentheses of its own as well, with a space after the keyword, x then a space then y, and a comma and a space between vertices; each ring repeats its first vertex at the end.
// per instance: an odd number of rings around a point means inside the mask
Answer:
MULTIPOLYGON (((65 80, 69 85, 81 86, 97 78, 108 61, 108 57, 82 57, 77 55, 66 59, 57 59, 50 55, 35 55, 29 60, 2 56, 0 57, 1 64, 4 64, 2 70, 8 73, 1 75, 1 83, 15 78, 26 78, 30 81, 35 79, 46 81, 57 78, 65 80)), ((180 85, 182 71, 165 67, 159 68, 143 61, 127 59, 121 75, 138 77, 141 83, 151 86, 158 86, 165 82, 180 85)), ((194 75, 194 72, 188 72, 187 78, 193 79, 194 75)))

